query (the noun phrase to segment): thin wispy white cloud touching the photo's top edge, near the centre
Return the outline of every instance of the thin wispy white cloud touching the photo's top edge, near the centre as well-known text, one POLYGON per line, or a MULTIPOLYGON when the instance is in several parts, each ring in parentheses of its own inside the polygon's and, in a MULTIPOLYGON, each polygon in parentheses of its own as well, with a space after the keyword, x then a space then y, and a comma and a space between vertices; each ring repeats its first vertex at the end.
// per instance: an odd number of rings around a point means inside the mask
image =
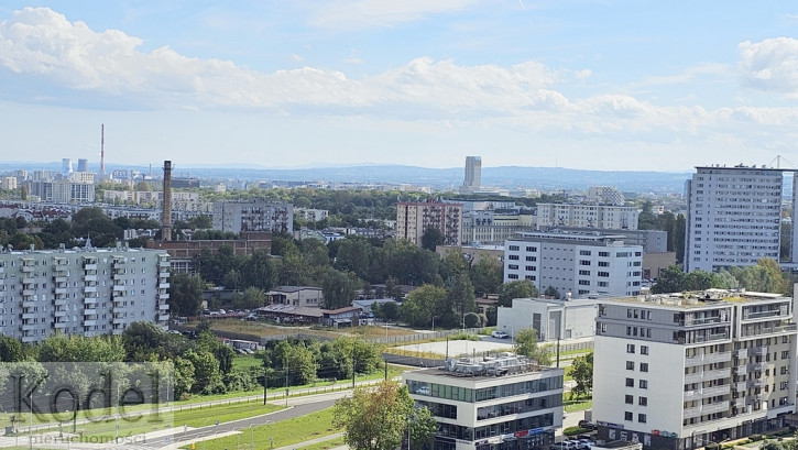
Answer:
POLYGON ((316 9, 309 23, 336 30, 392 26, 424 19, 428 14, 460 11, 477 0, 350 0, 329 1, 316 9))

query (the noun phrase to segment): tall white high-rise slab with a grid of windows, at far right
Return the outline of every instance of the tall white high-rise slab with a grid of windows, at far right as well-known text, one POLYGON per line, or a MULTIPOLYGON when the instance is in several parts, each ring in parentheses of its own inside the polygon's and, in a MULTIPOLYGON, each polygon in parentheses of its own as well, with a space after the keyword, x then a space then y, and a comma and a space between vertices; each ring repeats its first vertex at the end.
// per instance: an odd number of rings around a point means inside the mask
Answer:
POLYGON ((779 261, 783 172, 696 167, 686 184, 685 272, 779 261))

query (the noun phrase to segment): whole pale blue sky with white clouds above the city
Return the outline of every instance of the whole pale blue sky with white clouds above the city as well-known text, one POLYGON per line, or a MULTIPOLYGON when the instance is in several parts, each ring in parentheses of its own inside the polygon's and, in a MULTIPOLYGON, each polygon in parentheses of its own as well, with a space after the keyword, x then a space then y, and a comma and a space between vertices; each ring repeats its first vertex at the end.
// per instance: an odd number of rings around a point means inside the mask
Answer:
MULTIPOLYGON (((798 167, 798 3, 0 3, 0 161, 798 167)), ((1 163, 0 163, 1 167, 1 163)))

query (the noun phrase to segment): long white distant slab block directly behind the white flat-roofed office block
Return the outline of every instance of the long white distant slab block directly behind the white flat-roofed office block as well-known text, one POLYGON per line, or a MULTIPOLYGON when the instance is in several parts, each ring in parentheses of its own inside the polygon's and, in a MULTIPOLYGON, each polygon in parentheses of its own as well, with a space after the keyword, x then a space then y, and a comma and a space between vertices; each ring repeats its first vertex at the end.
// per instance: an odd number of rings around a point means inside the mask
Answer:
POLYGON ((632 206, 537 204, 539 227, 584 227, 602 230, 636 230, 637 208, 632 206))

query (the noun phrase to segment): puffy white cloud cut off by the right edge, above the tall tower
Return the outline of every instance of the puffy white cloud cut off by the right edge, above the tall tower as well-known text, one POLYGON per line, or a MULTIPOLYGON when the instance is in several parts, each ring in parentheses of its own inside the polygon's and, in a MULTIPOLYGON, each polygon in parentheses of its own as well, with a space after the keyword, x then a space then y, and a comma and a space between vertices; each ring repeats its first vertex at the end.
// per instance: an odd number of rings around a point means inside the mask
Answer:
POLYGON ((740 48, 740 76, 745 86, 798 98, 798 40, 745 41, 740 48))

